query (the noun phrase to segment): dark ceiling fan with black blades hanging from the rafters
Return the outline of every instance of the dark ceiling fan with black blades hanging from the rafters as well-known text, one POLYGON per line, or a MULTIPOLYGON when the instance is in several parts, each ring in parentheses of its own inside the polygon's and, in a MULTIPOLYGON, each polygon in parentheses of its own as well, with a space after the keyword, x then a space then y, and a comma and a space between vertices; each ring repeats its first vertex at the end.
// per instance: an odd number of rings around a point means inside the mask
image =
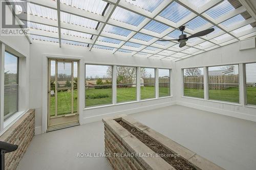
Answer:
POLYGON ((183 31, 185 30, 185 26, 181 26, 179 27, 179 30, 182 32, 181 35, 179 36, 179 39, 162 39, 162 40, 159 40, 159 41, 178 41, 180 43, 179 47, 183 47, 185 46, 187 43, 186 41, 190 38, 195 38, 195 37, 201 37, 201 36, 204 36, 204 35, 207 35, 211 32, 214 31, 214 28, 210 28, 210 29, 207 29, 207 30, 204 30, 204 31, 200 31, 196 34, 193 34, 193 35, 190 35, 189 37, 187 37, 186 34, 183 34, 183 31))

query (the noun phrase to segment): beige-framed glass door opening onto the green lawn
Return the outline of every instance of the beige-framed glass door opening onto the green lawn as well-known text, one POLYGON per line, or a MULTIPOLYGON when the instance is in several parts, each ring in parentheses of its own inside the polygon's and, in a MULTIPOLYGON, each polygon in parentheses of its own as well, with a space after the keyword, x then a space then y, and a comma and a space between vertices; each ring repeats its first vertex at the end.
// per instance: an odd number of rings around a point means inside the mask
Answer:
POLYGON ((78 61, 49 59, 48 129, 77 124, 78 61))

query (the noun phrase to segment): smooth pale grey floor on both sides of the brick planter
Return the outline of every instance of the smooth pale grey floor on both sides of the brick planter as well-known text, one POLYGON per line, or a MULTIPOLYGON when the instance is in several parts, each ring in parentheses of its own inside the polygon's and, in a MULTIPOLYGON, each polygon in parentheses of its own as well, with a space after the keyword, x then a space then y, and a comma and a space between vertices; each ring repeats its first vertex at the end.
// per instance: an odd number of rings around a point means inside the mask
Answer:
MULTIPOLYGON (((145 125, 225 169, 255 169, 256 123, 183 106, 132 114, 145 125)), ((18 170, 111 169, 105 158, 78 158, 103 153, 101 122, 34 136, 18 170)))

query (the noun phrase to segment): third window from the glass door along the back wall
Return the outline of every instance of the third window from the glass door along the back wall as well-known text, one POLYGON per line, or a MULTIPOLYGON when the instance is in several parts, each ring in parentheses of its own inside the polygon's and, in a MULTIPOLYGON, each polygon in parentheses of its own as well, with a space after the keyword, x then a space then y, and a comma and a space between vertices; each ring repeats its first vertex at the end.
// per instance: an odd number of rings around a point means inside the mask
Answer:
POLYGON ((140 68, 140 99, 156 98, 155 68, 140 68))

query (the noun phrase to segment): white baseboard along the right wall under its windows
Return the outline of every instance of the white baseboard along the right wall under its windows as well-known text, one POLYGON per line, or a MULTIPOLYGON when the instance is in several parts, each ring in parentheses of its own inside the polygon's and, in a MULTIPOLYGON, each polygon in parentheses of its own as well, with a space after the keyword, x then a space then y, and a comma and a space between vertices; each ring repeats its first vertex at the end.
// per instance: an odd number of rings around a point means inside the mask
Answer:
POLYGON ((256 122, 256 116, 250 115, 250 114, 234 112, 234 111, 229 111, 229 110, 223 110, 223 109, 218 109, 218 108, 214 108, 214 107, 207 107, 207 106, 203 106, 203 105, 196 105, 193 103, 186 103, 186 102, 181 102, 181 101, 176 101, 176 104, 194 108, 194 109, 198 109, 198 110, 204 110, 204 111, 208 111, 208 112, 212 112, 212 113, 222 114, 222 115, 226 115, 226 116, 231 116, 231 117, 236 117, 236 118, 241 118, 241 119, 256 122))

